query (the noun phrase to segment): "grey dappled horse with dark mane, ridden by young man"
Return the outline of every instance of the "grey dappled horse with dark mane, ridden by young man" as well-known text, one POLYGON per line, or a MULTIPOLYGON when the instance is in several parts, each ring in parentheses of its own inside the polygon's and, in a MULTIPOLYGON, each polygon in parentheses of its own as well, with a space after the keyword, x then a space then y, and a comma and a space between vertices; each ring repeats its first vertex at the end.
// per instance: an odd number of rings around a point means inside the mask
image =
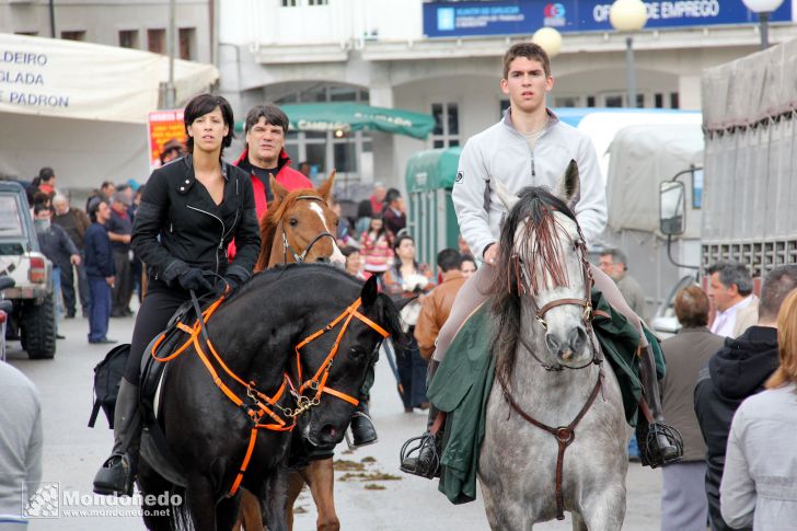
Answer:
POLYGON ((496 380, 478 464, 489 524, 530 530, 565 510, 574 530, 619 530, 625 415, 590 325, 587 249, 568 207, 579 195, 578 169, 570 162, 555 194, 524 188, 513 196, 497 186, 509 215, 493 301, 496 380))

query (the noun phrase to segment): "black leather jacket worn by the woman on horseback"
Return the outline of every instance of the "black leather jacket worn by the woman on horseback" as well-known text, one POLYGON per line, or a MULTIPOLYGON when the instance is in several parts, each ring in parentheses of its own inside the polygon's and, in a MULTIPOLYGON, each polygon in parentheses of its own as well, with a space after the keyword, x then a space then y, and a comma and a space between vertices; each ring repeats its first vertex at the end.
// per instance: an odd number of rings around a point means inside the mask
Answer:
POLYGON ((246 172, 222 161, 224 200, 217 206, 197 183, 192 155, 159 168, 150 176, 136 211, 131 247, 149 276, 170 284, 187 266, 218 275, 252 275, 261 250, 252 182, 246 172), (160 240, 159 240, 160 238, 160 240), (238 253, 228 265, 227 247, 238 253))

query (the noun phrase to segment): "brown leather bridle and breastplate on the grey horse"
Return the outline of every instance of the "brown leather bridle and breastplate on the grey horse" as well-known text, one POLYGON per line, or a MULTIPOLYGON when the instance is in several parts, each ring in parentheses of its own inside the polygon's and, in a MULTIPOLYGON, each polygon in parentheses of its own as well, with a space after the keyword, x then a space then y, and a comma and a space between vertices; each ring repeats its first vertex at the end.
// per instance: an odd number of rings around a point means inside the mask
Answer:
MULTIPOLYGON (((564 461, 565 461, 565 450, 567 450, 567 447, 570 446, 570 443, 576 438, 576 427, 581 422, 581 418, 587 414, 589 408, 592 406, 592 403, 594 403, 596 397, 598 396, 598 393, 602 389, 602 382, 603 382, 603 358, 600 357, 599 350, 594 344, 593 339, 593 330, 592 330, 592 301, 590 297, 590 289, 592 287, 592 273, 590 270, 589 262, 587 261, 587 245, 585 243, 584 236, 581 235, 581 229, 578 229, 578 234, 580 239, 575 242, 576 249, 580 252, 581 255, 581 270, 584 274, 584 280, 585 280, 585 297, 584 299, 555 299, 551 302, 547 302, 542 308, 535 310, 534 312, 534 319, 542 325, 544 330, 547 330, 547 322, 545 321, 545 313, 547 313, 548 310, 566 305, 566 304, 575 304, 578 307, 582 307, 584 311, 581 313, 581 320, 584 321, 584 324, 587 328, 587 337, 589 339, 589 346, 592 351, 592 358, 585 365, 580 367, 567 367, 558 361, 556 361, 555 365, 553 363, 546 363, 540 357, 534 354, 534 349, 523 339, 522 335, 518 336, 518 339, 520 344, 532 355, 532 357, 540 363, 540 366, 545 369, 546 371, 562 371, 565 368, 578 370, 587 368, 591 365, 598 366, 598 379, 596 380, 594 385, 592 386, 592 392, 590 393, 589 397, 587 399, 587 402, 581 406, 581 409, 578 412, 578 415, 576 415, 576 418, 573 419, 570 424, 567 426, 559 426, 559 427, 552 427, 546 424, 543 424, 539 420, 536 420, 534 417, 529 415, 512 397, 511 393, 509 392, 509 385, 506 381, 504 381, 504 378, 501 376, 498 377, 498 382, 501 386, 501 393, 504 394, 504 399, 507 401, 509 406, 515 409, 525 422, 531 424, 532 426, 536 426, 538 428, 547 431, 548 434, 553 435, 556 438, 556 442, 558 445, 558 452, 556 454, 556 475, 555 475, 555 487, 556 487, 556 519, 557 520, 564 520, 565 518, 565 501, 564 501, 564 494, 562 492, 562 481, 563 481, 563 469, 564 469, 564 461)), ((519 257, 516 255, 513 257, 516 261, 519 259, 519 257)), ((523 284, 520 276, 518 276, 518 293, 527 293, 531 290, 528 289, 523 284)), ((536 307, 536 303, 534 302, 534 299, 532 297, 532 304, 536 307)))

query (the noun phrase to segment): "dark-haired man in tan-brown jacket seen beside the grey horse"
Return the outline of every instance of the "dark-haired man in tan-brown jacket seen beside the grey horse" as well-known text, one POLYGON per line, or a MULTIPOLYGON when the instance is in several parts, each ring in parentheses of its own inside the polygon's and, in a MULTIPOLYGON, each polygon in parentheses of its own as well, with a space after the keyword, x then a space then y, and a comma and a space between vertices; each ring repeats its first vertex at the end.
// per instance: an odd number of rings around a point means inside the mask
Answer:
POLYGON ((427 361, 435 351, 435 342, 440 327, 451 313, 457 292, 465 284, 465 277, 460 272, 461 263, 460 253, 453 249, 443 249, 437 253, 437 267, 442 281, 421 301, 420 315, 415 325, 415 339, 420 347, 420 355, 427 361))

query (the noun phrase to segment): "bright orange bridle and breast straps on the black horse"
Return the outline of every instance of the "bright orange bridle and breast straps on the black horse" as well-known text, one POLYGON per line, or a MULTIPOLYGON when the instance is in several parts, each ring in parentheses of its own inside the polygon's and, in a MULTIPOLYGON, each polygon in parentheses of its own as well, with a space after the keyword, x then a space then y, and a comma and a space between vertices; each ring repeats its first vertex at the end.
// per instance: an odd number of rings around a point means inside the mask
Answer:
POLYGON ((362 304, 362 299, 358 298, 356 301, 354 301, 351 304, 349 304, 338 316, 336 316, 334 320, 332 320, 328 324, 326 324, 323 328, 314 332, 313 334, 309 335, 299 343, 294 350, 296 350, 296 363, 297 363, 297 374, 300 382, 299 388, 293 384, 293 382, 290 379, 290 376, 288 376, 287 372, 282 373, 282 383, 277 390, 277 392, 273 396, 268 396, 264 394, 263 392, 258 391, 256 388, 256 382, 250 381, 245 382, 243 379, 241 379, 238 374, 235 374, 232 370, 230 370, 229 367, 224 363, 224 361, 221 359, 221 356, 219 356, 218 351, 213 347, 213 344, 210 342, 210 338, 208 337, 206 323, 210 319, 210 316, 216 312, 216 310, 219 308, 219 305, 224 301, 224 296, 222 295, 218 300, 213 301, 210 307, 208 307, 207 310, 204 312, 199 309, 199 302, 196 298, 196 295, 192 290, 192 303, 194 305, 194 310, 196 311, 197 315, 200 315, 200 319, 197 319, 193 326, 187 326, 184 323, 178 323, 177 327, 182 330, 183 332, 189 334, 188 339, 178 347, 173 354, 160 358, 157 356, 155 351, 158 349, 158 346, 165 339, 165 333, 162 334, 158 340, 153 344, 151 349, 151 356, 155 359, 155 361, 166 362, 175 359, 177 356, 183 354, 189 345, 194 346, 194 350, 196 351, 197 356, 199 356, 199 359, 203 361, 203 365, 205 365, 205 368, 207 369, 208 373, 210 374, 213 383, 216 386, 221 390, 221 392, 233 403, 236 407, 241 408, 250 418, 250 422, 252 424, 252 430, 250 434, 250 441, 249 446, 246 448, 246 454, 244 455, 243 462, 241 463, 241 467, 239 469, 238 475, 235 476, 235 480, 232 483, 232 486, 230 487, 230 490, 228 492, 227 496, 231 497, 234 496, 238 492, 239 487, 241 486, 241 482, 243 480, 243 475, 246 472, 246 467, 249 466, 250 459, 252 458, 252 453, 254 452, 255 443, 257 441, 257 435, 259 434, 261 429, 268 429, 272 431, 292 431, 296 427, 296 419, 299 415, 302 413, 309 411, 310 408, 319 405, 321 403, 321 396, 322 393, 327 393, 332 396, 335 396, 337 399, 340 399, 345 402, 348 402, 350 404, 354 404, 355 406, 359 403, 357 399, 354 396, 350 396, 344 392, 334 390, 326 385, 326 381, 330 377, 330 370, 332 369, 333 360, 335 359, 335 356, 338 353, 338 348, 340 346, 340 340, 343 339, 344 334, 346 333, 349 324, 351 323, 353 319, 358 319, 366 325, 368 325, 370 328, 376 331, 379 335, 381 335, 383 338, 386 338, 390 336, 390 333, 385 331, 383 327, 381 327, 379 324, 374 323, 372 320, 360 313, 359 308, 362 304), (319 367, 319 370, 313 374, 312 378, 309 380, 302 382, 302 367, 301 367, 301 354, 299 350, 312 343, 313 340, 317 339, 322 335, 326 334, 327 332, 332 332, 335 330, 335 327, 343 322, 343 325, 340 326, 340 331, 337 334, 337 337, 335 338, 335 343, 333 344, 332 348, 330 349, 330 353, 327 354, 326 358, 322 362, 321 367, 319 367), (199 336, 201 336, 201 342, 199 339, 199 336), (222 380, 219 376, 219 371, 213 367, 213 362, 211 362, 208 355, 203 349, 203 344, 207 347, 208 351, 212 355, 213 360, 216 361, 216 365, 220 367, 220 369, 230 378, 232 378, 240 386, 244 388, 244 396, 241 396, 240 393, 235 393, 232 391, 222 380), (305 390, 313 391, 313 396, 309 397, 303 394, 305 390), (284 407, 278 402, 279 400, 285 395, 286 390, 288 390, 288 393, 296 400, 296 407, 284 407), (268 417, 273 420, 273 423, 264 424, 261 420, 263 417, 268 417))

